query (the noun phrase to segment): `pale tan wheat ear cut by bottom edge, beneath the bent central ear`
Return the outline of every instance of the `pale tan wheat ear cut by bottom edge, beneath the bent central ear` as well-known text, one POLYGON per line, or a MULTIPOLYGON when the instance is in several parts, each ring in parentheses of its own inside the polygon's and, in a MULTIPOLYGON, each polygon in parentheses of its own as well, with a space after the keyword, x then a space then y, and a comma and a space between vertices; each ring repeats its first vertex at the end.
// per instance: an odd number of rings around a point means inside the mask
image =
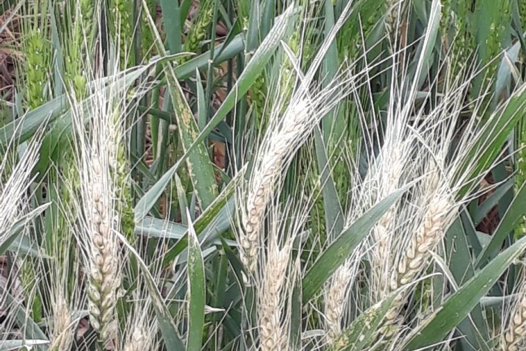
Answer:
POLYGON ((269 245, 267 263, 260 294, 259 335, 262 351, 284 349, 287 332, 281 323, 285 274, 290 257, 290 244, 281 250, 277 244, 269 245))

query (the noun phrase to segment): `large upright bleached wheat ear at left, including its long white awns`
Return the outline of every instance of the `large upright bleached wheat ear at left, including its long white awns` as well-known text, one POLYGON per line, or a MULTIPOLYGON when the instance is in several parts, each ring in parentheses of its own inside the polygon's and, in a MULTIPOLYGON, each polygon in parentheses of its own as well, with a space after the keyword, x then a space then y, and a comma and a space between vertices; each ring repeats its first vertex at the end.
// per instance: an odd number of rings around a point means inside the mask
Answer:
POLYGON ((89 320, 101 345, 108 340, 112 329, 122 268, 116 234, 120 219, 115 211, 115 192, 110 177, 110 155, 115 152, 109 149, 112 144, 107 142, 108 131, 114 126, 108 111, 111 105, 103 87, 97 86, 88 101, 91 117, 88 126, 84 124, 86 109, 83 104, 73 101, 71 108, 80 163, 82 210, 78 213, 78 235, 85 249, 83 258, 88 270, 89 320))

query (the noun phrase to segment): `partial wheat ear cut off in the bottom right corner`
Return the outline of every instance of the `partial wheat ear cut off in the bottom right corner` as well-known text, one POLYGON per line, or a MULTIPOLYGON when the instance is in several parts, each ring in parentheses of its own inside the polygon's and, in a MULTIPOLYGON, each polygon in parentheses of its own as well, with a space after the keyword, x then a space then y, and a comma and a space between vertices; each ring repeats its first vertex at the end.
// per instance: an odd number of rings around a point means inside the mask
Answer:
POLYGON ((502 337, 502 349, 506 351, 518 351, 524 349, 526 340, 526 270, 523 268, 521 288, 517 302, 513 306, 508 329, 502 337))

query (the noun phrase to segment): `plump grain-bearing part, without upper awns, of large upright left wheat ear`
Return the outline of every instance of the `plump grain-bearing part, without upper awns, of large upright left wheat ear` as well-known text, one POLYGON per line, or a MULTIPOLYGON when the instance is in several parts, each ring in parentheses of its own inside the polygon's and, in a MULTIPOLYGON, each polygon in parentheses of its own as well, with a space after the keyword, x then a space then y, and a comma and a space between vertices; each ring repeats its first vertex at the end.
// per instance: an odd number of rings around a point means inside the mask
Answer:
POLYGON ((90 233, 88 312, 92 326, 105 341, 114 318, 117 289, 120 286, 117 243, 112 233, 115 218, 110 196, 103 185, 102 165, 97 155, 91 160, 89 184, 92 207, 86 208, 90 233))

